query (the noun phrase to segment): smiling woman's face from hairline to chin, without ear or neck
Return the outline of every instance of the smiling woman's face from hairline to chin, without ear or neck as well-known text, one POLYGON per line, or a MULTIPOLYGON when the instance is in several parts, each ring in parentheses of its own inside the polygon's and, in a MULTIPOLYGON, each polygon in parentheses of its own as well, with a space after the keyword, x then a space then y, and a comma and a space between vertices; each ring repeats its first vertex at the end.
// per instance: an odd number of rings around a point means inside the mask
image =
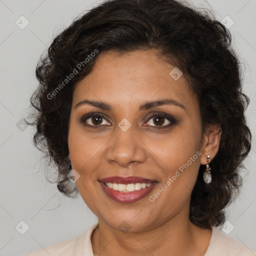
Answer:
POLYGON ((170 73, 174 67, 153 51, 104 52, 74 90, 68 147, 80 175, 76 186, 99 221, 113 228, 142 231, 188 219, 204 136, 198 102, 184 76, 170 73), (163 99, 169 103, 150 104, 163 99), (102 181, 112 176, 152 185, 112 185, 133 190, 116 191, 102 181))

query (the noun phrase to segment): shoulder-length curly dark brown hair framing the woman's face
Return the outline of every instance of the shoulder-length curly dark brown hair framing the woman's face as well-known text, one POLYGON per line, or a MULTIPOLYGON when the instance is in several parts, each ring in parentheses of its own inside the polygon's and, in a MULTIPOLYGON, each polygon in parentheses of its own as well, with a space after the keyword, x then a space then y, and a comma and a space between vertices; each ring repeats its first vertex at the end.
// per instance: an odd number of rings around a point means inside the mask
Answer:
POLYGON ((58 190, 76 195, 77 188, 70 189, 67 178, 73 88, 101 52, 137 49, 157 50, 182 70, 199 102, 202 130, 209 124, 221 127, 219 150, 211 161, 212 181, 205 184, 205 166, 200 165, 189 211, 194 224, 218 226, 241 186, 239 172, 250 150, 251 133, 244 116, 249 98, 241 89, 241 65, 230 32, 208 10, 199 12, 175 0, 108 0, 77 17, 53 39, 37 64, 39 85, 30 99, 34 144, 57 167, 58 190))

